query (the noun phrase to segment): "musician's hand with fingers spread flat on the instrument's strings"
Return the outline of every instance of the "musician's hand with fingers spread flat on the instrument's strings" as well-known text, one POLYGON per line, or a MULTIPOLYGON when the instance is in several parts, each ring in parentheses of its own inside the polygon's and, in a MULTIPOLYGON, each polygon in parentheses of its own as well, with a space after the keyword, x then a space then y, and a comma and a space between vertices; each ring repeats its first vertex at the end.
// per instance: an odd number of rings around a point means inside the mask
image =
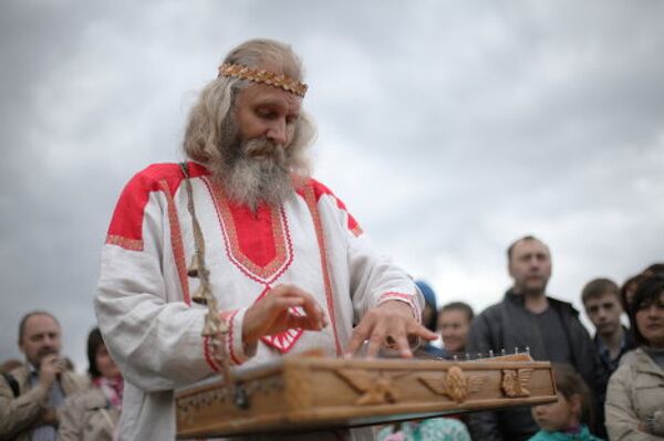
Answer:
POLYGON ((404 358, 413 357, 408 336, 414 335, 427 340, 435 340, 436 334, 422 326, 413 316, 413 309, 401 301, 386 301, 367 312, 351 336, 345 356, 351 357, 369 340, 367 357, 375 357, 390 337, 404 358))

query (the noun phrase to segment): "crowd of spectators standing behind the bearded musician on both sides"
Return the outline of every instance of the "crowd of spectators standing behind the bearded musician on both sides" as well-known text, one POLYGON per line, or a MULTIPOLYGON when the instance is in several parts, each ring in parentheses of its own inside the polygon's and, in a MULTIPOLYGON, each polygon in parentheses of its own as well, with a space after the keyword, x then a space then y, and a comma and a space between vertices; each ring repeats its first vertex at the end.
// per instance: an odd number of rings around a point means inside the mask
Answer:
MULTIPOLYGON (((440 336, 438 345, 427 344, 423 353, 452 360, 468 353, 528 350, 535 360, 553 363, 558 402, 400 423, 384 427, 377 438, 662 439, 664 264, 650 265, 622 285, 598 277, 580 290, 593 336, 570 303, 548 294, 551 253, 541 240, 527 235, 513 242, 507 269, 512 285, 478 315, 459 301, 438 308, 430 285, 416 281, 426 301, 423 323, 440 336), (436 438, 440 433, 445 438, 436 438)), ((49 312, 30 312, 21 319, 18 344, 24 359, 0 365, 0 439, 117 439, 123 377, 102 334, 94 328, 89 335, 85 376, 61 355, 61 335, 49 312)))

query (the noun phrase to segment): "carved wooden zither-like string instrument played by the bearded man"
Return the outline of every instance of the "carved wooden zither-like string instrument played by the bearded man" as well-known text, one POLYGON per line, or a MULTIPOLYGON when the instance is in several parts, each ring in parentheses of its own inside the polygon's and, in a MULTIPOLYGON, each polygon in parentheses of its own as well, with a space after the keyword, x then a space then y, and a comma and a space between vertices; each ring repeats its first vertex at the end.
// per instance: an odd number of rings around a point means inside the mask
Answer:
POLYGON ((241 408, 220 378, 176 391, 178 438, 307 431, 556 401, 547 361, 289 356, 238 368, 241 408))

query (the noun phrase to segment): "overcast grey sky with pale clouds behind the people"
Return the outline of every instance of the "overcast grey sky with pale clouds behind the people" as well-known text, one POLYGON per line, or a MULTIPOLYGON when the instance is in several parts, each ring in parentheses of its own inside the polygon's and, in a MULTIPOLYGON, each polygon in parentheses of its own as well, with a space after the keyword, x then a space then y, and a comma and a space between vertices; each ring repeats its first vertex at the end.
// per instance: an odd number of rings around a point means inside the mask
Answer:
POLYGON ((315 176, 376 246, 477 311, 532 233, 552 295, 664 261, 664 2, 0 2, 0 360, 53 312, 86 368, 98 256, 125 182, 181 159, 224 55, 292 44, 315 176))

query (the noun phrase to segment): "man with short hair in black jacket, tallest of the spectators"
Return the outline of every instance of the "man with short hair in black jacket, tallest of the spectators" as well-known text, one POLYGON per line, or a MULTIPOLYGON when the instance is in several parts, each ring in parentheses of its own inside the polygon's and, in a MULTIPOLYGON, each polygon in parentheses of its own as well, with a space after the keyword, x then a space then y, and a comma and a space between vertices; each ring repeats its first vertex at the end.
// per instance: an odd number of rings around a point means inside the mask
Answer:
MULTIPOLYGON (((500 354, 502 349, 529 348, 536 360, 567 363, 595 393, 599 411, 605 374, 578 311, 546 294, 551 276, 549 248, 527 235, 509 246, 507 256, 513 285, 500 303, 475 318, 468 351, 500 354)), ((477 440, 527 440, 539 430, 528 407, 474 413, 469 424, 477 440)), ((598 424, 595 431, 601 433, 600 426, 603 428, 598 424)))

